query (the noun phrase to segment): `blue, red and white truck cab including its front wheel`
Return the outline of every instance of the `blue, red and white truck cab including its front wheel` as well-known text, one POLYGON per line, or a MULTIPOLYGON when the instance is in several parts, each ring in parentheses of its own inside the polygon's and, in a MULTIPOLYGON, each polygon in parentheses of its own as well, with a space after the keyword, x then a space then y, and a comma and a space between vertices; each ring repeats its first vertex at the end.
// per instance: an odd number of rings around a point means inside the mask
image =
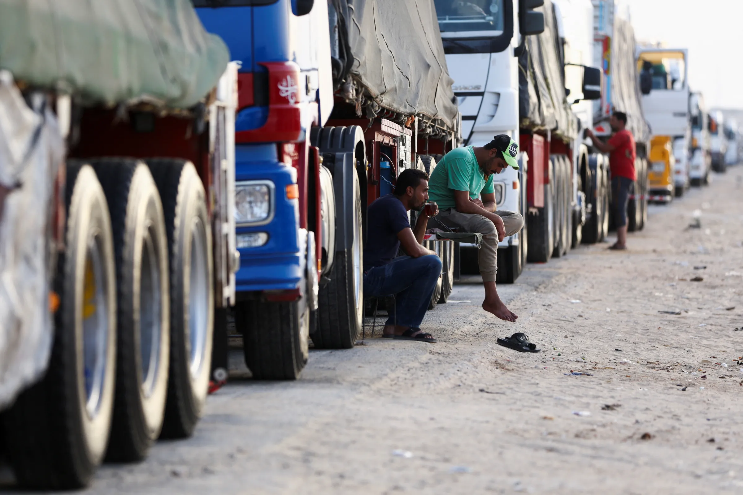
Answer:
POLYGON ((313 0, 192 1, 206 30, 224 39, 240 65, 234 134, 221 139, 235 142, 234 317, 245 364, 254 378, 298 378, 318 307, 317 253, 325 247, 318 226, 322 159, 310 134, 333 109, 328 7, 313 0))

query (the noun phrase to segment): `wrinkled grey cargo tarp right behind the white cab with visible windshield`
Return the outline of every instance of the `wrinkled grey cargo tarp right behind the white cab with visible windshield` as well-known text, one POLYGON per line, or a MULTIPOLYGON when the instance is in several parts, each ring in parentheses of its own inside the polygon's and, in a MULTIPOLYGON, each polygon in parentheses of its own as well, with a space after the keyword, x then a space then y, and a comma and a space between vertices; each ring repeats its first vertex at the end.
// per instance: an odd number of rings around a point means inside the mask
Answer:
POLYGON ((545 30, 527 36, 519 56, 519 118, 521 127, 548 129, 557 137, 577 137, 577 117, 565 97, 565 72, 550 0, 536 9, 545 14, 545 30))

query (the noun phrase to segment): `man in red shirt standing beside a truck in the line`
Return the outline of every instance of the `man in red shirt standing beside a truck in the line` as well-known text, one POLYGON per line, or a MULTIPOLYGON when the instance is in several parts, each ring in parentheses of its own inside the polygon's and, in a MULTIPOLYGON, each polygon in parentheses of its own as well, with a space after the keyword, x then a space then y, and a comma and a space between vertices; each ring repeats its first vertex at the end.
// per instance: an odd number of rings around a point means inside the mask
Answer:
POLYGON ((594 146, 603 153, 609 153, 609 167, 611 168, 611 202, 614 206, 614 222, 617 224, 617 242, 609 249, 627 249, 627 203, 629 195, 635 194, 635 137, 628 131, 627 114, 614 112, 609 119, 611 135, 607 142, 603 142, 594 135, 591 129, 586 135, 594 142, 594 146))

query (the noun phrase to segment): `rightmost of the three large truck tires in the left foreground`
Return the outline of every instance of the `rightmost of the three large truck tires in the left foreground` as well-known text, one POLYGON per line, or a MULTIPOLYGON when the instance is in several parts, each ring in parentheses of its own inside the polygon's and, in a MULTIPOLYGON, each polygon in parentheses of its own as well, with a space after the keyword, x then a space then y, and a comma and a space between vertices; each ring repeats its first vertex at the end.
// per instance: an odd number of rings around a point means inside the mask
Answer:
POLYGON ((170 267, 170 368, 162 438, 191 436, 209 390, 214 332, 212 233, 193 163, 147 160, 160 191, 170 267))

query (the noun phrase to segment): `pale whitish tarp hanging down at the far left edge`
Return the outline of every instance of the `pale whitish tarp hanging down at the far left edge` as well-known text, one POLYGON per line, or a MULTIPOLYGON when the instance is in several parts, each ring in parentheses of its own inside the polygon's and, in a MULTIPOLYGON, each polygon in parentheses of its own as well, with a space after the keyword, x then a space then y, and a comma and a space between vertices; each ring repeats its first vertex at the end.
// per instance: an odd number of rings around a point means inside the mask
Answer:
POLYGON ((0 71, 0 410, 47 368, 48 212, 65 145, 54 114, 29 108, 0 71))

